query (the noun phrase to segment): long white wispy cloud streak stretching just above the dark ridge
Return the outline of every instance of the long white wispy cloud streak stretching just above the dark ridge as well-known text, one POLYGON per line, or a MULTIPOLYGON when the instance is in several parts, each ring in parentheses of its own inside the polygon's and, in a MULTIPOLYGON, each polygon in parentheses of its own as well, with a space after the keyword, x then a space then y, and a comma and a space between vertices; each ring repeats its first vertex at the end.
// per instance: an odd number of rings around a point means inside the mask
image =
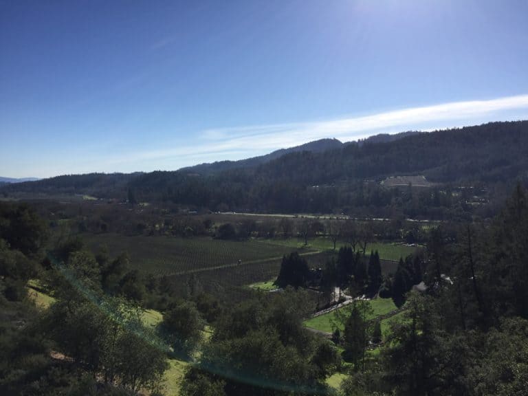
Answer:
POLYGON ((197 162, 251 157, 324 137, 350 141, 376 133, 397 133, 411 129, 430 131, 446 126, 512 118, 528 118, 528 95, 435 104, 316 122, 208 129, 198 134, 192 146, 133 153, 115 158, 112 162, 157 162, 175 158, 179 166, 188 166, 197 162))

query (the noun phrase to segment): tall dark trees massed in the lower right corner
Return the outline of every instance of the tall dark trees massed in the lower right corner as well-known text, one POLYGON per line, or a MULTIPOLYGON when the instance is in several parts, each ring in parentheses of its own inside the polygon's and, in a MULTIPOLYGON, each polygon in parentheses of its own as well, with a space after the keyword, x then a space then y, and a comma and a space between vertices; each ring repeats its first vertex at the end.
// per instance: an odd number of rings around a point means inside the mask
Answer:
MULTIPOLYGON (((528 197, 520 186, 489 228, 465 225, 455 239, 441 228, 431 234, 426 289, 401 294, 401 320, 381 353, 355 366, 342 393, 525 395, 527 252, 528 197)), ((351 328, 368 329, 364 316, 353 321, 351 328)))

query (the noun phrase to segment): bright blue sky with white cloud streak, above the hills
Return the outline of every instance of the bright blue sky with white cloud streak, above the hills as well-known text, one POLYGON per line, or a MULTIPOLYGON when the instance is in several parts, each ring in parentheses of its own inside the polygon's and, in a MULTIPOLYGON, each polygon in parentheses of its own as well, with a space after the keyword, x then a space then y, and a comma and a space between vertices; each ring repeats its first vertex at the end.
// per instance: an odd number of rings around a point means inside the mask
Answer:
POLYGON ((528 1, 2 1, 0 175, 528 119, 528 1))

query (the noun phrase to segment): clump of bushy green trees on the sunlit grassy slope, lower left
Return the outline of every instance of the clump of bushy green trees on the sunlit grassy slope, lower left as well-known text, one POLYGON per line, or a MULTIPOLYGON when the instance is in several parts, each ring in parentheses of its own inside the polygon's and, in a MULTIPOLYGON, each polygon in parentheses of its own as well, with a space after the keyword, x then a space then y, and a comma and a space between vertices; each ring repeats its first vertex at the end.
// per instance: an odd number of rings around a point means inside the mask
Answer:
POLYGON ((164 353, 143 337, 139 312, 118 301, 58 300, 45 322, 58 349, 107 384, 155 389, 166 370, 164 353))

